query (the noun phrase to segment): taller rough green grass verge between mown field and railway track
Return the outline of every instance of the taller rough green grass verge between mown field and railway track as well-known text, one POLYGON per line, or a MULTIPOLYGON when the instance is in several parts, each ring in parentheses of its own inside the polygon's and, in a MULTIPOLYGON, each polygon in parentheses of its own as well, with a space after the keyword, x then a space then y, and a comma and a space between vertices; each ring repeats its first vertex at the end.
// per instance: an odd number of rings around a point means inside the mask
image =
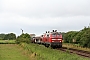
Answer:
POLYGON ((69 52, 62 52, 59 50, 46 48, 38 44, 25 44, 22 43, 21 46, 35 54, 34 57, 37 60, 90 60, 90 58, 81 57, 75 54, 70 54, 69 52))

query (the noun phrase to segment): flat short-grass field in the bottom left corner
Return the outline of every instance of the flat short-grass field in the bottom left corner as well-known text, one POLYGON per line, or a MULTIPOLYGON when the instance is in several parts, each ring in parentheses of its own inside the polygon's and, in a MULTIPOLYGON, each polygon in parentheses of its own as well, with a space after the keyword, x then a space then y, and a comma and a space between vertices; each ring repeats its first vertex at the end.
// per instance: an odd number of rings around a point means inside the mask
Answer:
POLYGON ((16 44, 0 44, 0 60, 30 60, 16 44))

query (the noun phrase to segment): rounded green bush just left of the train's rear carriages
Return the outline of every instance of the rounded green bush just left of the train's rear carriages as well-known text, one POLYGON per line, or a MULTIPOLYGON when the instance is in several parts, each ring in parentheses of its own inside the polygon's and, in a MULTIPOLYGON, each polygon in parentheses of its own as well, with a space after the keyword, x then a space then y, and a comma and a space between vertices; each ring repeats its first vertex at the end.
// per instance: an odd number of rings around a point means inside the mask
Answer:
POLYGON ((30 40, 31 39, 31 37, 30 37, 30 35, 29 34, 27 34, 27 33, 23 33, 23 34, 21 34, 20 36, 18 36, 17 37, 17 39, 16 39, 16 43, 22 43, 22 42, 25 42, 25 43, 30 43, 30 40))

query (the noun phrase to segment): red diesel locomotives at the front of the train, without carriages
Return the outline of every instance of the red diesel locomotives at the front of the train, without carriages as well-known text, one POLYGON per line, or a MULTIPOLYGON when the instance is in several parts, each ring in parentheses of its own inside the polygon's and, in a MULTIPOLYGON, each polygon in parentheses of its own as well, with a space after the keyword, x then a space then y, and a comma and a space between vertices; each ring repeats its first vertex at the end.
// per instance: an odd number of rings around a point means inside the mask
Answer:
POLYGON ((57 32, 57 30, 53 30, 52 32, 44 33, 41 37, 41 43, 46 47, 62 47, 62 34, 57 32))

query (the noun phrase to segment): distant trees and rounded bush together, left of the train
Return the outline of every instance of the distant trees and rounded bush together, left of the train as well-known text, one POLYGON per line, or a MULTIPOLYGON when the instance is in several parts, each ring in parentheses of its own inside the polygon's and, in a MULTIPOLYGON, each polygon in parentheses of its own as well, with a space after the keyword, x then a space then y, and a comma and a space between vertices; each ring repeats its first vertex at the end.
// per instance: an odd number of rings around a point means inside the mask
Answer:
POLYGON ((28 33, 22 33, 20 36, 16 37, 16 34, 14 33, 8 33, 8 34, 0 34, 0 40, 16 40, 16 43, 30 43, 31 37, 28 33))

